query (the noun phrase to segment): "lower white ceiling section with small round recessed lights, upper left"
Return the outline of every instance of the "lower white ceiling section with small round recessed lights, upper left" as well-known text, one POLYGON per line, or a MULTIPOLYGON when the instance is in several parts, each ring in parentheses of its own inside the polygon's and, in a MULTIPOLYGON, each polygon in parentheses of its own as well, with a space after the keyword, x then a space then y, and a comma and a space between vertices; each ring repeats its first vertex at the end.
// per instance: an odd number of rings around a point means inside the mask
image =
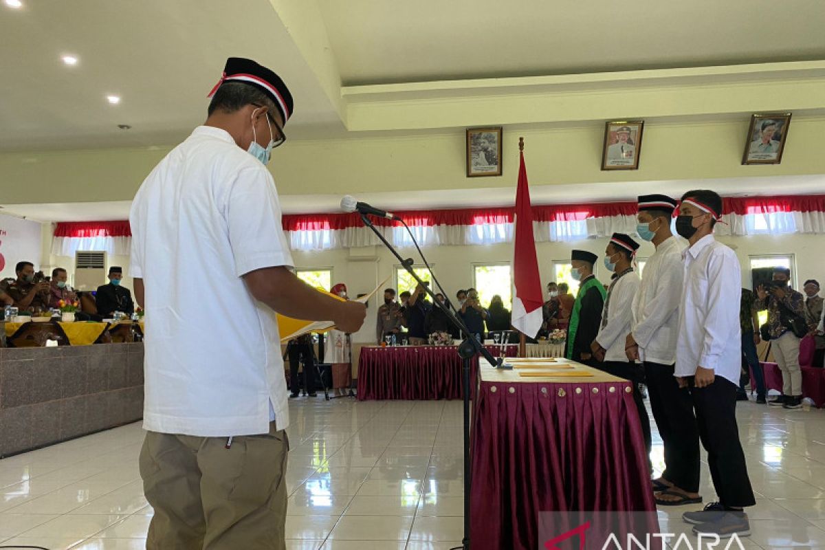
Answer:
POLYGON ((342 126, 267 0, 22 2, 0 3, 0 150, 178 143, 205 120, 231 56, 276 68, 290 86, 288 136, 342 126))

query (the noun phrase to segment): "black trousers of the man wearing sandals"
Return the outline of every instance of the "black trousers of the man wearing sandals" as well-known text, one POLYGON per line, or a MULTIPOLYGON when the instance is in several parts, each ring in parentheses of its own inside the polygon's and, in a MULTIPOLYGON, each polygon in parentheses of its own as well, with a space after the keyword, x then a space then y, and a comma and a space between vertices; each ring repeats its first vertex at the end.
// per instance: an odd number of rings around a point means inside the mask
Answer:
POLYGON ((662 477, 683 491, 699 491, 699 427, 687 388, 679 388, 672 364, 644 362, 650 409, 662 436, 662 477))

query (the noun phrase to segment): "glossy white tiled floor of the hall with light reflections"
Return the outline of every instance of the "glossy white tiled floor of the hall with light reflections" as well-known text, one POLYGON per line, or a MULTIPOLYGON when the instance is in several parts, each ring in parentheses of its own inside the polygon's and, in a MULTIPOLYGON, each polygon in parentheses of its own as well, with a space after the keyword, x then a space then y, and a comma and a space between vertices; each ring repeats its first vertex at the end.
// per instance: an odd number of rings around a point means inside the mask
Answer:
MULTIPOLYGON (((287 548, 459 543, 460 402, 302 398, 290 416, 287 548)), ((738 417, 757 491, 744 547, 825 550, 825 411, 747 402, 738 417)), ((0 460, 0 545, 144 548, 152 510, 138 473, 142 438, 134 424, 0 460)), ((653 460, 661 466, 661 441, 653 460)), ((713 500, 704 464, 701 492, 713 500)), ((680 517, 693 508, 662 508, 662 526, 689 532, 680 517)))

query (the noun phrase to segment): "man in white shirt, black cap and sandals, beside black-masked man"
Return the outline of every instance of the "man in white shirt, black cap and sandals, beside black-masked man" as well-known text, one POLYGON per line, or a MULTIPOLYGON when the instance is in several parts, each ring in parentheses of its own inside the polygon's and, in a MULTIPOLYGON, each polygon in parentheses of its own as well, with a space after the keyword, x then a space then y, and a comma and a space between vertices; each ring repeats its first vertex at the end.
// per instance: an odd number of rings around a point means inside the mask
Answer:
POLYGON ((679 302, 685 265, 684 241, 674 237, 671 220, 678 201, 667 195, 639 197, 637 233, 656 251, 644 266, 633 301, 633 331, 627 336, 629 360, 642 360, 653 420, 662 436, 665 470, 653 480, 658 505, 695 504, 699 496, 699 430, 687 388, 673 377, 679 302))

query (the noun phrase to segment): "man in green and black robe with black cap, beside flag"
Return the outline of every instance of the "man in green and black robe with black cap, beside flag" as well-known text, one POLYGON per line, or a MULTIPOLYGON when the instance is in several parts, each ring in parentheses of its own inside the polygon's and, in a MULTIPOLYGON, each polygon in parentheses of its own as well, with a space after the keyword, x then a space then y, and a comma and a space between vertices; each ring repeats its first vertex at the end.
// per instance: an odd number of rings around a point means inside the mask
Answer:
POLYGON ((607 294, 605 286, 593 275, 596 256, 586 250, 574 250, 570 256, 573 279, 579 281, 568 327, 567 354, 569 360, 595 364, 590 345, 599 333, 601 310, 607 294))

